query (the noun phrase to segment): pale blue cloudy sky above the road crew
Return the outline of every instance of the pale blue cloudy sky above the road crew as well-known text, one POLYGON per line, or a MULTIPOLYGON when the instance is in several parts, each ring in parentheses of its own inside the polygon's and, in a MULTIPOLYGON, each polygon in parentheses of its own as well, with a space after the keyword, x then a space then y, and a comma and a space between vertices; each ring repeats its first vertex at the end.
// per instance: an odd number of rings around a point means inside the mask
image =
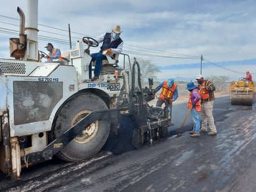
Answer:
MULTIPOLYGON (((19 35, 18 6, 26 11, 21 0, 1 5, 0 58, 9 57, 9 38, 19 35)), ((204 76, 237 80, 249 70, 254 77, 255 7, 253 0, 39 0, 39 50, 46 51, 47 42, 68 50, 68 24, 73 42, 110 32, 119 24, 124 53, 152 61, 161 70, 158 80, 194 79, 201 71, 201 55, 204 76)))

